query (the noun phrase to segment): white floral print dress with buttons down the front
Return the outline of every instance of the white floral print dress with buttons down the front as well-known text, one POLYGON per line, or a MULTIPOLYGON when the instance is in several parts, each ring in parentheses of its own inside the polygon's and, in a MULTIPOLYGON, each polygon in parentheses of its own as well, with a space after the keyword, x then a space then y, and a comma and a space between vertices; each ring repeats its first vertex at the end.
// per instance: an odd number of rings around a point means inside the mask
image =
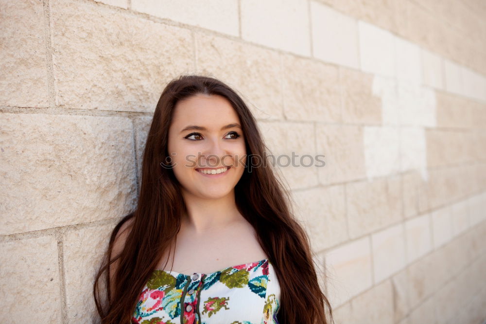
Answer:
POLYGON ((134 324, 278 324, 280 286, 269 259, 212 273, 155 270, 134 324))

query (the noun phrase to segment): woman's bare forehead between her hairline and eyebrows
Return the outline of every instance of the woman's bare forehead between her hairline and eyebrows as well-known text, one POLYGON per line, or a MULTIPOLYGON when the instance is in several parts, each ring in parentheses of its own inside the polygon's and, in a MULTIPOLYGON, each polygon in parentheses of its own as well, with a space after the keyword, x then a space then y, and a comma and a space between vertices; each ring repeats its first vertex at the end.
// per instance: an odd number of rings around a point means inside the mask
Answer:
POLYGON ((175 105, 171 127, 182 129, 191 124, 219 130, 221 125, 239 122, 238 114, 225 97, 196 94, 175 105))

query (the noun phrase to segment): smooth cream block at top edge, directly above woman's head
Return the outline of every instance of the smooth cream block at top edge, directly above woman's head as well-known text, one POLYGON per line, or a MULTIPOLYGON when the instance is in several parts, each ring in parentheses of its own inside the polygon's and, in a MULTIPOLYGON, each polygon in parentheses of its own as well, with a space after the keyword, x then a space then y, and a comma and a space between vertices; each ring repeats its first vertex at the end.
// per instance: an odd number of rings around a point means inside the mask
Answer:
POLYGON ((132 9, 165 19, 239 36, 237 0, 131 0, 132 9), (202 14, 204 13, 204 14, 202 14))

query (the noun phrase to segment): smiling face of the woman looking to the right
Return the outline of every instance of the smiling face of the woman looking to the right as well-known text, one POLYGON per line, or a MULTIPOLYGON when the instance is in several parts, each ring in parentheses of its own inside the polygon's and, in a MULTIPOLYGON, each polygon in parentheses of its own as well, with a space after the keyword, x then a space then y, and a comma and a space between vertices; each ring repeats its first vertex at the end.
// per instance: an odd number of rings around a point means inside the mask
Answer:
POLYGON ((220 95, 196 94, 179 101, 169 128, 168 153, 183 192, 213 199, 234 194, 246 156, 238 114, 220 95))

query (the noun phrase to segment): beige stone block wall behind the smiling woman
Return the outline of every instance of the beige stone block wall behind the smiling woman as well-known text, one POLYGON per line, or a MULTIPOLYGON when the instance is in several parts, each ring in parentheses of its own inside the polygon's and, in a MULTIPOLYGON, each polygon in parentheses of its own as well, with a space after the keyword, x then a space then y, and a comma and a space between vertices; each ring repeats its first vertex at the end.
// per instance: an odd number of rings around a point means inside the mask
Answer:
POLYGON ((486 320, 482 0, 0 1, 1 323, 90 323, 156 102, 243 96, 335 322, 486 320), (305 162, 305 160, 304 160, 305 162))

